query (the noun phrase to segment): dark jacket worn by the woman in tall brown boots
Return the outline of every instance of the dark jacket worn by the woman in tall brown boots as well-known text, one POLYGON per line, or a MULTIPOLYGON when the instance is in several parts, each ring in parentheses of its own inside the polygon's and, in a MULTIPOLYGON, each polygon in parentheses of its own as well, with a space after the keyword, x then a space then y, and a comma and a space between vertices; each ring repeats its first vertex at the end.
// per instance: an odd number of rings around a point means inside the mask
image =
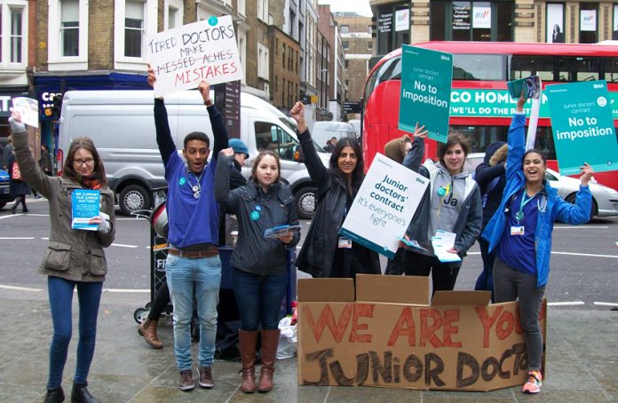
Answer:
MULTIPOLYGON (((234 269, 258 275, 286 273, 288 253, 279 239, 267 239, 264 231, 280 225, 298 225, 294 196, 289 186, 276 182, 264 190, 253 180, 246 186, 230 190, 229 174, 234 170, 230 157, 219 156, 215 171, 215 198, 238 218, 238 241, 232 253, 230 265, 234 269), (258 219, 252 219, 252 214, 258 219)), ((300 233, 287 248, 295 248, 300 233)))

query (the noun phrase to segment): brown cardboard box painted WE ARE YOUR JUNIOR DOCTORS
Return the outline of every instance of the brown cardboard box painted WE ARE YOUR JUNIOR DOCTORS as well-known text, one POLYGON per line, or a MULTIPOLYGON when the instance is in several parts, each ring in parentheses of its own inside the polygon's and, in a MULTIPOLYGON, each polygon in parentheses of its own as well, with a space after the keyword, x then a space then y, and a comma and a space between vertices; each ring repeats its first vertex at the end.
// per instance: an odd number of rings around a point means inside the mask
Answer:
MULTIPOLYGON (((298 281, 298 384, 492 391, 526 382, 517 303, 426 277, 298 281)), ((545 334, 543 303, 541 328, 545 334)), ((544 337, 544 336, 543 336, 544 337)))

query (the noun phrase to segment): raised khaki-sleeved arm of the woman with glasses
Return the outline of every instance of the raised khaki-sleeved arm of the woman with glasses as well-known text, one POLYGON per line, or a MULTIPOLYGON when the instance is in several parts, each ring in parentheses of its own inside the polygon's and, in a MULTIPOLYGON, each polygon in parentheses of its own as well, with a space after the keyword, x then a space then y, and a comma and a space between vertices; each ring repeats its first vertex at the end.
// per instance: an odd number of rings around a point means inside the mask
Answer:
POLYGON ((45 175, 30 152, 30 147, 28 146, 28 131, 26 130, 26 125, 21 122, 19 112, 12 113, 9 118, 9 124, 11 125, 15 159, 20 166, 21 178, 23 178, 28 185, 36 187, 36 190, 49 199, 52 193, 50 186, 51 177, 45 175))

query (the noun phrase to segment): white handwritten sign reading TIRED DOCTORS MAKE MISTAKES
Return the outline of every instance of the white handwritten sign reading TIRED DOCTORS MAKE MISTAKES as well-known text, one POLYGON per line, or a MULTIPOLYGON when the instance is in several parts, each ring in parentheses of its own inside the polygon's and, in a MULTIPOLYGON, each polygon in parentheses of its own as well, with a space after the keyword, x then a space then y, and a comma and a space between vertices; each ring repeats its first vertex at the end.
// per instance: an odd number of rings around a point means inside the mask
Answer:
POLYGON ((155 96, 242 78, 232 17, 210 17, 147 37, 147 60, 155 70, 155 96))

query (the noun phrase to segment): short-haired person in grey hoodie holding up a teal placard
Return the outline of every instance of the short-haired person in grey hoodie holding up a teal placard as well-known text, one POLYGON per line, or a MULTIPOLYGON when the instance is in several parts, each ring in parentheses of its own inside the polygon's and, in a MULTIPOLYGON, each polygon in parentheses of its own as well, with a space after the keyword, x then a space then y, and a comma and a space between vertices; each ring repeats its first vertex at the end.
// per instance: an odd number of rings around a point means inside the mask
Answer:
POLYGON ((433 253, 432 237, 438 230, 456 233, 455 244, 449 253, 464 258, 480 233, 482 212, 479 186, 464 170, 470 149, 468 139, 459 132, 451 132, 447 143, 438 143, 440 162, 422 166, 424 137, 414 139, 403 164, 429 178, 430 183, 406 236, 424 248, 406 249, 403 267, 406 275, 432 274, 433 293, 455 288, 462 262, 440 262, 433 253))

